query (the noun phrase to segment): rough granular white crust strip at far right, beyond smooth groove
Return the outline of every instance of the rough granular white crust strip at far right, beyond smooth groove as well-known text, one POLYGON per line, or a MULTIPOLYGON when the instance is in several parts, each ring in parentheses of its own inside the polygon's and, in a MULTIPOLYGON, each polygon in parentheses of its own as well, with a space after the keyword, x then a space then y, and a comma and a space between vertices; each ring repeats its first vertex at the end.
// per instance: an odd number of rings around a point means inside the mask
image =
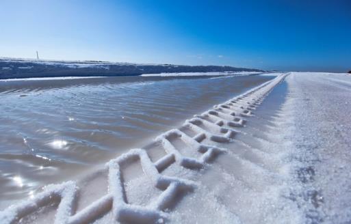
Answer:
POLYGON ((351 76, 292 72, 287 82, 293 124, 287 138, 301 183, 292 193, 309 222, 350 223, 351 76))

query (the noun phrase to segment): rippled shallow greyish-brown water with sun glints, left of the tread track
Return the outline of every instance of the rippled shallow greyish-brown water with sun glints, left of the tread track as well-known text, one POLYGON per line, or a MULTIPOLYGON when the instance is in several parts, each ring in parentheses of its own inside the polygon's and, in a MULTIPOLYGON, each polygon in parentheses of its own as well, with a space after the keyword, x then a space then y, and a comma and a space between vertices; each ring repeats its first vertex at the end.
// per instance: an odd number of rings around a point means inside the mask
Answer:
POLYGON ((0 81, 0 208, 273 76, 0 81))

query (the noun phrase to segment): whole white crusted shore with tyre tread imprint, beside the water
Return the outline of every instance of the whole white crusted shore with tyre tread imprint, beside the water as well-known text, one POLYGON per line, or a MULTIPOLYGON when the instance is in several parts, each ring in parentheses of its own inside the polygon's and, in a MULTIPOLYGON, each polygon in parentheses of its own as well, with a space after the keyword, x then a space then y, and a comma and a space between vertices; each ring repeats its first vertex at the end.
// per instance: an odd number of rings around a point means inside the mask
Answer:
POLYGON ((1 221, 349 223, 350 89, 348 74, 279 74, 1 221))

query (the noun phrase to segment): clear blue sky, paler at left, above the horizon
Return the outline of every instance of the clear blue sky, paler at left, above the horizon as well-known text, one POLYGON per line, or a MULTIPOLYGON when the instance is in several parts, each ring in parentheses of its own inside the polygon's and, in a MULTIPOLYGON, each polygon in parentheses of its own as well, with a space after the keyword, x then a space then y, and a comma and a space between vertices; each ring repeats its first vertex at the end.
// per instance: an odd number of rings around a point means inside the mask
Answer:
POLYGON ((351 70, 350 0, 1 0, 0 56, 351 70))

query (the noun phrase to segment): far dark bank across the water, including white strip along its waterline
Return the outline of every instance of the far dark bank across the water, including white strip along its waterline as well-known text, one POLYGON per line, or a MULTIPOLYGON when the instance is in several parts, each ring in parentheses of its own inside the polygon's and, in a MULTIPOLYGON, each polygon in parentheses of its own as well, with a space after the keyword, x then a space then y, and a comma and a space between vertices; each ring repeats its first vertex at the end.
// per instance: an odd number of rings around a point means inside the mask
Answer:
POLYGON ((109 61, 64 61, 64 60, 42 60, 42 59, 14 59, 1 58, 0 68, 4 74, 2 79, 24 78, 31 76, 83 76, 88 74, 101 73, 105 76, 125 76, 139 75, 142 76, 222 76, 222 75, 247 75, 260 74, 261 72, 244 72, 246 68, 234 68, 230 66, 179 66, 171 64, 133 64, 125 62, 109 61), (1 66, 2 65, 2 66, 1 66), (183 72, 196 71, 198 69, 205 71, 220 70, 224 72, 183 72), (10 71, 12 70, 12 71, 10 71), (225 71, 228 70, 228 71, 225 71), (243 70, 242 72, 231 72, 232 70, 243 70), (161 74, 147 74, 150 72, 167 72, 161 74), (177 73, 180 72, 180 73, 177 73))

